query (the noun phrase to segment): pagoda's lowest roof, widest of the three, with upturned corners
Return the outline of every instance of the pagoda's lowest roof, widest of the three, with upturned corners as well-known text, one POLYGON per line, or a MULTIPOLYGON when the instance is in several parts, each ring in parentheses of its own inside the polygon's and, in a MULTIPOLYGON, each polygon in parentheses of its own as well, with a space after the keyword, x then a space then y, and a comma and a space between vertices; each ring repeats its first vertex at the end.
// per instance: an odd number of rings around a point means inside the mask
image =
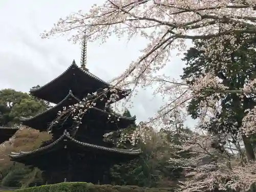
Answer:
POLYGON ((141 154, 141 150, 122 150, 119 148, 111 148, 111 147, 104 147, 104 146, 99 146, 95 144, 90 144, 90 143, 84 143, 80 142, 73 137, 70 136, 70 134, 65 130, 63 134, 54 142, 52 142, 49 145, 39 147, 36 150, 29 151, 29 152, 23 152, 19 151, 18 153, 12 152, 9 156, 11 157, 12 160, 20 159, 23 157, 28 157, 28 156, 33 156, 36 154, 43 154, 50 152, 52 150, 57 150, 60 147, 65 147, 69 143, 75 144, 75 146, 80 146, 84 148, 85 150, 96 150, 98 152, 110 152, 110 153, 115 153, 115 154, 126 154, 126 155, 139 155, 141 154))

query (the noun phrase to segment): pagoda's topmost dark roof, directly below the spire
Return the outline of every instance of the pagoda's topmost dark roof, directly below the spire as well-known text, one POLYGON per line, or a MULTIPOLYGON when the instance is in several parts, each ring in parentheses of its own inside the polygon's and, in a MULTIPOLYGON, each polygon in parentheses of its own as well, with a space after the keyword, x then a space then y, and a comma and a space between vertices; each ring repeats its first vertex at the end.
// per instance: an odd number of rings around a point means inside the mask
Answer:
MULTIPOLYGON (((58 103, 68 94, 69 90, 72 90, 76 97, 82 99, 88 93, 92 94, 109 87, 111 87, 109 83, 90 73, 87 69, 78 67, 73 61, 72 65, 61 75, 42 87, 31 89, 30 93, 40 99, 58 103)), ((119 99, 126 95, 127 91, 120 91, 119 99)))

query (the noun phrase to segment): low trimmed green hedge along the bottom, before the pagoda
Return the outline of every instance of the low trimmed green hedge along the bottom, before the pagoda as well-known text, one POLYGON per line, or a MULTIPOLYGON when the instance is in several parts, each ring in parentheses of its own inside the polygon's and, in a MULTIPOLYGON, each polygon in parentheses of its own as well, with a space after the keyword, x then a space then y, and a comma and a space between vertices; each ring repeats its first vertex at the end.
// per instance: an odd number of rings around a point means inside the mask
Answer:
POLYGON ((138 186, 93 185, 67 182, 16 190, 16 192, 173 192, 172 188, 145 188, 138 186))

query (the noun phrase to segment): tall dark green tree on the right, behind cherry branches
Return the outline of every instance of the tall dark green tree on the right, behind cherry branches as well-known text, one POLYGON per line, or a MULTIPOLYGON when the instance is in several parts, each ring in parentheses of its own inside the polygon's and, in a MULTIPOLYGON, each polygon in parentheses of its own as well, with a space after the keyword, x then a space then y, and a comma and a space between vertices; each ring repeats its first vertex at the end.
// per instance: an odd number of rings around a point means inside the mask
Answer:
MULTIPOLYGON (((255 37, 246 39, 239 35, 236 40, 243 46, 231 53, 229 51, 227 55, 226 51, 220 54, 215 60, 216 65, 214 72, 212 72, 212 75, 215 75, 216 78, 218 77, 220 83, 229 90, 242 89, 245 87, 246 82, 256 77, 256 51, 251 49, 256 46, 255 37), (229 58, 229 65, 221 65, 220 61, 222 57, 229 58)), ((207 74, 207 71, 212 70, 209 69, 212 58, 209 58, 205 54, 205 51, 200 49, 200 47, 204 46, 204 42, 197 40, 194 43, 195 46, 190 48, 184 57, 187 65, 184 68, 184 74, 182 76, 184 79, 196 79, 205 73, 207 74)), ((229 41, 223 41, 222 46, 225 50, 230 50, 229 41)), ((191 81, 190 83, 193 82, 191 81)), ((219 101, 217 104, 218 109, 214 113, 211 113, 211 119, 207 123, 201 124, 200 127, 212 135, 212 140, 210 141, 211 147, 215 148, 218 153, 221 153, 219 156, 224 158, 221 162, 227 163, 226 170, 223 170, 223 165, 222 167, 218 165, 218 168, 224 172, 220 173, 218 177, 226 177, 226 179, 228 178, 227 180, 233 180, 232 184, 230 181, 227 183, 230 184, 230 187, 232 185, 234 187, 234 183, 238 182, 237 178, 241 178, 242 174, 246 174, 243 172, 242 166, 254 167, 253 137, 250 138, 250 134, 254 133, 254 130, 251 130, 248 124, 245 126, 244 118, 246 118, 248 110, 253 110, 256 105, 255 94, 241 93, 238 95, 237 93, 225 93, 215 95, 214 92, 207 92, 191 100, 188 105, 188 112, 193 118, 198 118, 206 113, 205 108, 212 104, 212 100, 219 101), (202 103, 205 104, 203 105, 202 103), (245 148, 247 158, 244 156, 243 148, 245 148), (252 160, 252 162, 247 163, 247 160, 252 160), (239 169, 241 169, 240 175, 238 174, 239 172, 233 175, 231 174, 239 169), (232 175, 233 178, 229 178, 229 175, 225 175, 225 172, 232 175), (234 177, 235 175, 237 177, 236 179, 234 177)), ((220 162, 220 158, 218 160, 216 159, 216 161, 220 162)), ((249 170, 250 168, 248 168, 247 172, 249 170)), ((217 174, 215 175, 216 177, 217 174)), ((255 179, 253 174, 247 173, 247 179, 243 182, 251 184, 255 182, 255 179)), ((222 183, 222 185, 227 185, 227 183, 222 183)), ((247 185, 247 188, 249 186, 247 185)), ((236 187, 239 188, 238 186, 236 187)))

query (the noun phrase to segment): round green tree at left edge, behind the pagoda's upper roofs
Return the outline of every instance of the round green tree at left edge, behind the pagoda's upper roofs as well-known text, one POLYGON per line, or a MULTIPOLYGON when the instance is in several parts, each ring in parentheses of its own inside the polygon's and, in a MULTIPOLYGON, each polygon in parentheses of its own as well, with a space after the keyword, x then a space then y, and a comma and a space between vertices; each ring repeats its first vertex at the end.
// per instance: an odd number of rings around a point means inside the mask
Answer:
POLYGON ((11 126, 20 117, 30 117, 45 111, 48 105, 27 93, 4 89, 0 91, 0 125, 11 126))

